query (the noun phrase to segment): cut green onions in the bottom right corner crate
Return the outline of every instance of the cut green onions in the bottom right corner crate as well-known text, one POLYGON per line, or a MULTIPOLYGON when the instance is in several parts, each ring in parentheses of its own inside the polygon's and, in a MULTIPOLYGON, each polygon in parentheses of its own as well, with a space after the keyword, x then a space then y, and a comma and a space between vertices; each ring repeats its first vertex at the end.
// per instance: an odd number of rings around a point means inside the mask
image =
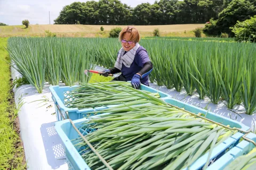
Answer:
POLYGON ((256 148, 251 150, 249 154, 237 157, 224 170, 253 170, 256 167, 256 148))

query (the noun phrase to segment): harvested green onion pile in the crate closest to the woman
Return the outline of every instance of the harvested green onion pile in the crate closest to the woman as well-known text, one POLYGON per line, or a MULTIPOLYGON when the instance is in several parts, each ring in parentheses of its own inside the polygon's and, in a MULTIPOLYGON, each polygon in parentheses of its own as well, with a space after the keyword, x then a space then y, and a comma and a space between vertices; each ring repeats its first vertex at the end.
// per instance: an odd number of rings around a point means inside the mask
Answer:
POLYGON ((129 101, 147 101, 164 103, 158 99, 158 93, 150 93, 144 90, 135 90, 127 82, 102 82, 82 83, 74 88, 69 94, 65 94, 65 105, 67 107, 94 108, 106 105, 118 105, 129 101))

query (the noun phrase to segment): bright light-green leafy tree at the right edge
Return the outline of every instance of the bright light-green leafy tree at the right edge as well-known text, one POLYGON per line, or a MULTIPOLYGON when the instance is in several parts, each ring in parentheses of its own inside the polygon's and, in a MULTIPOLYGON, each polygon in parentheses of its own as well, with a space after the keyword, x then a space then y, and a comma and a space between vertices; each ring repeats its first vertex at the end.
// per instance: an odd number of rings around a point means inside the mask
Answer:
POLYGON ((234 27, 231 27, 237 41, 252 41, 256 42, 256 15, 251 19, 243 22, 237 21, 234 27))

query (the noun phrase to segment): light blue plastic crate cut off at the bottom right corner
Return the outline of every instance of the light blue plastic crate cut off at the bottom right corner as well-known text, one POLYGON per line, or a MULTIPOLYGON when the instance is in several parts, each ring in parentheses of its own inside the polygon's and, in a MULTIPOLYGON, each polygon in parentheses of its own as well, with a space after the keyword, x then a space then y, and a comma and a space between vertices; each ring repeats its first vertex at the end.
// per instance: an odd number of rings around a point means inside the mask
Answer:
MULTIPOLYGON (((246 135, 246 138, 249 138, 256 142, 256 134, 249 133, 246 135)), ((212 166, 207 168, 207 170, 215 170, 215 169, 224 169, 228 164, 233 162, 237 157, 248 154, 255 146, 253 143, 243 140, 238 143, 237 146, 229 150, 225 155, 223 155, 220 159, 218 159, 212 166)))

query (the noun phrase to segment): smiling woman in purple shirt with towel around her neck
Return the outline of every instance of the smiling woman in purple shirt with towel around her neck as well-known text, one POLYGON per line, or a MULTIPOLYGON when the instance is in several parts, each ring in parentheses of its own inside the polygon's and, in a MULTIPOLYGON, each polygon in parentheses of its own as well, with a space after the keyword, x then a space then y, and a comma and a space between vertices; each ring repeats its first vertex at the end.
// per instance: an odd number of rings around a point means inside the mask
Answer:
POLYGON ((115 67, 104 70, 102 75, 108 77, 108 74, 121 72, 113 81, 131 81, 135 89, 139 89, 141 83, 149 86, 148 74, 153 70, 153 64, 146 49, 139 45, 139 31, 134 27, 125 27, 119 33, 119 40, 122 48, 118 52, 115 67))

